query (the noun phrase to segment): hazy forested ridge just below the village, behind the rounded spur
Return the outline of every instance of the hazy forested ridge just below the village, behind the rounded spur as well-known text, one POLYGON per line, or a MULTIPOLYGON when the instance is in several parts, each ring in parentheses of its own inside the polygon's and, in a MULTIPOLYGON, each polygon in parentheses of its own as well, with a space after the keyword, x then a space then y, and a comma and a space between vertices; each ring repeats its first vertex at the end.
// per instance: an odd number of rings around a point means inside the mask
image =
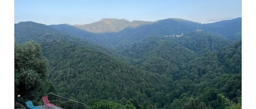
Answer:
POLYGON ((172 40, 195 53, 205 54, 207 52, 217 52, 232 41, 221 36, 211 35, 205 31, 192 31, 180 37, 166 37, 165 40, 172 40))

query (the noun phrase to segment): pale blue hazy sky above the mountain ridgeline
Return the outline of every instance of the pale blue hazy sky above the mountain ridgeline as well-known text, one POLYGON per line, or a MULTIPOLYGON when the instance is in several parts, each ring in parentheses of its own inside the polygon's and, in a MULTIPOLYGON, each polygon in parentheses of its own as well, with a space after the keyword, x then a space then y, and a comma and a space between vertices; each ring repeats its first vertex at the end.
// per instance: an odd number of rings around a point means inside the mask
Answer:
POLYGON ((102 18, 156 21, 182 18, 199 23, 241 17, 241 0, 15 0, 15 23, 88 24, 102 18))

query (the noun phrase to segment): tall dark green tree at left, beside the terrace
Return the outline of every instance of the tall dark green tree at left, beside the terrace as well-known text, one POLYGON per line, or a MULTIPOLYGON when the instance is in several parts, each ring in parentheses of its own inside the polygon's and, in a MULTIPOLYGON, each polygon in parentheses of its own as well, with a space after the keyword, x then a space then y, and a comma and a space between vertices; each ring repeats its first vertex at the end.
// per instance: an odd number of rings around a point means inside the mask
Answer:
POLYGON ((46 77, 47 60, 41 55, 39 44, 15 44, 15 94, 44 93, 46 77))

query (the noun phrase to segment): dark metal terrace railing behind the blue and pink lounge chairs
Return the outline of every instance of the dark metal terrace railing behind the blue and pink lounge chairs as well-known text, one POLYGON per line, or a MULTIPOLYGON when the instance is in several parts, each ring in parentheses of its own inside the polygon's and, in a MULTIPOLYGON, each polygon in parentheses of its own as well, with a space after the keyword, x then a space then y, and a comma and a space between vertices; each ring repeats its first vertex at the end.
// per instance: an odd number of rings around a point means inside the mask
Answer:
MULTIPOLYGON (((25 102, 31 100, 35 106, 44 105, 41 97, 48 96, 50 103, 56 105, 57 107, 61 107, 64 109, 85 109, 87 108, 86 104, 83 102, 79 102, 73 99, 65 98, 57 94, 48 93, 42 95, 32 95, 25 97, 17 97, 16 102, 20 104, 19 108, 24 108, 26 106, 25 102), (23 105, 23 106, 22 106, 23 105)), ((16 107, 16 103, 15 103, 16 107)))

